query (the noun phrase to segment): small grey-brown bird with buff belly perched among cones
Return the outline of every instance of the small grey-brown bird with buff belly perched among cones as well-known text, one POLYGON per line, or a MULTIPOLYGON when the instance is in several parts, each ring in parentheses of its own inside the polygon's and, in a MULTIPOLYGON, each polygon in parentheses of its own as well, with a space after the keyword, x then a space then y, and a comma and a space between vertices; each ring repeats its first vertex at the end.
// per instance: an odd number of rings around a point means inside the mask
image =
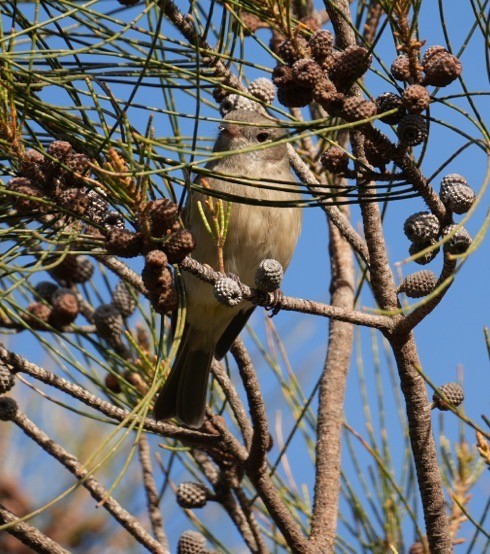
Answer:
MULTIPOLYGON (((277 260, 287 268, 301 229, 300 208, 270 205, 271 201, 294 201, 298 195, 287 146, 277 142, 285 132, 275 121, 259 111, 229 112, 219 126, 213 152, 231 153, 206 164, 212 172, 206 177, 210 189, 255 200, 254 204, 233 200, 223 246, 225 272, 238 276, 248 286, 253 286, 257 267, 264 259, 277 260), (265 145, 270 146, 257 149, 265 145), (240 178, 260 182, 237 183, 240 178)), ((206 230, 199 210, 199 202, 205 208, 207 198, 202 192, 191 191, 185 207, 186 227, 196 239, 192 257, 216 269, 216 242, 206 230)), ((220 360, 226 355, 255 306, 245 300, 234 307, 224 306, 216 300, 212 286, 186 272, 183 282, 184 331, 153 414, 157 420, 176 418, 197 429, 205 419, 213 357, 220 360)))

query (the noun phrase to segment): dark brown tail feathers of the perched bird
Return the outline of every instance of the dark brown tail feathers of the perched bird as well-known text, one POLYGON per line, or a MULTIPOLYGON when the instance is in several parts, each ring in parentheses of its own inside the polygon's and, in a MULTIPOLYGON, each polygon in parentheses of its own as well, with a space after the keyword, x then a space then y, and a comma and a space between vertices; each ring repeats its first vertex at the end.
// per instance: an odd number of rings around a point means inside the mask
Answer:
POLYGON ((177 418, 195 429, 204 422, 208 378, 213 361, 214 345, 196 348, 192 329, 184 334, 174 365, 160 392, 153 414, 155 419, 177 418))

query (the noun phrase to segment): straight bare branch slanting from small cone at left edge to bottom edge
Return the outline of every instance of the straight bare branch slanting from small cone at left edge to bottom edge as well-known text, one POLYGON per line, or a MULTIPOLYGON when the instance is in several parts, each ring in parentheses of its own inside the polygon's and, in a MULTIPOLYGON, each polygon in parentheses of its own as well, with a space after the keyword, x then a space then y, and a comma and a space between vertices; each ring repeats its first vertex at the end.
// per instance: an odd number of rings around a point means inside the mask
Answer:
POLYGON ((88 490, 92 498, 97 500, 97 502, 101 502, 101 505, 112 517, 148 551, 155 554, 165 554, 165 552, 168 552, 143 529, 140 522, 134 516, 108 495, 107 489, 83 468, 75 456, 49 438, 46 433, 41 431, 27 418, 24 412, 17 408, 17 412, 11 420, 45 452, 62 464, 88 490))

